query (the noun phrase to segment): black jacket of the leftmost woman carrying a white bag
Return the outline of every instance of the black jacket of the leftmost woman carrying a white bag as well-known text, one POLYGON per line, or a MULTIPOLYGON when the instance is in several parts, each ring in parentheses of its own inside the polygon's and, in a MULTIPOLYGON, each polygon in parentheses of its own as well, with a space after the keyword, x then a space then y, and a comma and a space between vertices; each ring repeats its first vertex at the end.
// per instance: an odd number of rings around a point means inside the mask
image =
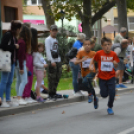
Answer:
MULTIPOLYGON (((17 43, 17 39, 15 39, 15 43, 17 43)), ((13 35, 11 32, 6 32, 1 40, 0 49, 3 51, 11 52, 11 63, 14 63, 14 55, 17 58, 17 49, 14 43, 13 35), (15 52, 15 54, 14 54, 15 52)), ((15 61, 16 62, 16 61, 15 61)))

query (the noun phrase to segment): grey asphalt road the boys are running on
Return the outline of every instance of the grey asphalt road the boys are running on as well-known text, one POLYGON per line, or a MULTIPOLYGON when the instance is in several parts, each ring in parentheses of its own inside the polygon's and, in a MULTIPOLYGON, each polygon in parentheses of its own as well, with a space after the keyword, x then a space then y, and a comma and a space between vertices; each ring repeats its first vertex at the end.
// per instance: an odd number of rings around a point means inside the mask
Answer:
POLYGON ((1 117, 0 134, 134 134, 133 92, 117 97, 115 115, 106 109, 100 98, 98 110, 80 102, 1 117))

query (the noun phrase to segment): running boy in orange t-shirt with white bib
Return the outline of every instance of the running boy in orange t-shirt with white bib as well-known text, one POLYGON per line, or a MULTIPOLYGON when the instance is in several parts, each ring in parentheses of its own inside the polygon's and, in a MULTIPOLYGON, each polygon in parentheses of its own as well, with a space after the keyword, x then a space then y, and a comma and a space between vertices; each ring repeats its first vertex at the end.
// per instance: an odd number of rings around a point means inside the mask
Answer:
MULTIPOLYGON (((88 102, 91 103, 93 101, 94 96, 94 108, 98 108, 98 98, 96 97, 95 90, 92 86, 92 79, 95 76, 95 69, 91 72, 89 70, 89 64, 92 60, 92 58, 95 56, 95 52, 91 51, 92 45, 90 43, 89 39, 86 39, 83 43, 83 50, 79 51, 77 54, 77 59, 75 61, 75 64, 81 63, 81 74, 83 77, 82 85, 84 86, 84 89, 88 91, 88 102), (92 95, 91 95, 92 94, 92 95)), ((83 89, 81 89, 83 90, 83 89)))

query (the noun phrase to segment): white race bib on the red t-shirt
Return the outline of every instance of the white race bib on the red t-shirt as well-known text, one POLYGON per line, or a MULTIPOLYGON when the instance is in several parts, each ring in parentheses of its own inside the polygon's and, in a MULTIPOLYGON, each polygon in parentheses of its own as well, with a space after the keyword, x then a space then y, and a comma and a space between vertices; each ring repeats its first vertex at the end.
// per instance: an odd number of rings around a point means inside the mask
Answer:
POLYGON ((101 71, 112 71, 113 62, 101 62, 101 71))

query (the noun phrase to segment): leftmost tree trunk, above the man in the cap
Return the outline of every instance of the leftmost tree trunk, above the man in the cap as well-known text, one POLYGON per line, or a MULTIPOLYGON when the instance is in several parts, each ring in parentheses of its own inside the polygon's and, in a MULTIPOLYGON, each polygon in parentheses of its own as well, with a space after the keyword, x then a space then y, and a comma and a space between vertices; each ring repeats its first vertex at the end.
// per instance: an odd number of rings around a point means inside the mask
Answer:
POLYGON ((50 6, 50 1, 49 0, 42 0, 42 7, 43 7, 44 14, 46 17, 46 25, 48 28, 50 28, 51 25, 55 24, 55 19, 51 15, 52 10, 51 10, 51 6, 50 6))

